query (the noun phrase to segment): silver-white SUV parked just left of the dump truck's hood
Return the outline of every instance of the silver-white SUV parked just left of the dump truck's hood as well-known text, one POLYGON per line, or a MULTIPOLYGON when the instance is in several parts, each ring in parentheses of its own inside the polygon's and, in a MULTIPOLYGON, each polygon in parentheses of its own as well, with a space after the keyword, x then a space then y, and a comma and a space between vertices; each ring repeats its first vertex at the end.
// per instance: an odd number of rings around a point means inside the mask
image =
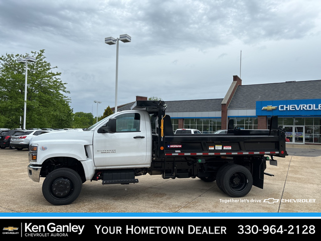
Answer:
POLYGON ((41 134, 48 133, 45 130, 28 130, 19 133, 19 136, 12 136, 10 141, 10 146, 16 148, 17 150, 22 150, 24 148, 29 148, 30 141, 41 134))

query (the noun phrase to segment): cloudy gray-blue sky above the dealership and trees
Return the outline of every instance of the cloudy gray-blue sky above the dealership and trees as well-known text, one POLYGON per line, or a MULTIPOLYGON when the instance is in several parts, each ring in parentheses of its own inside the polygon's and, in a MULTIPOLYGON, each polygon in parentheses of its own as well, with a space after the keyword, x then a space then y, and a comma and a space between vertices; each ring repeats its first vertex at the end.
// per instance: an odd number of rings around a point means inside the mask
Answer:
POLYGON ((95 116, 94 100, 98 115, 115 104, 116 45, 105 37, 132 39, 119 43, 118 104, 223 98, 233 75, 321 79, 320 13, 319 0, 0 0, 0 54, 45 49, 74 112, 95 116))

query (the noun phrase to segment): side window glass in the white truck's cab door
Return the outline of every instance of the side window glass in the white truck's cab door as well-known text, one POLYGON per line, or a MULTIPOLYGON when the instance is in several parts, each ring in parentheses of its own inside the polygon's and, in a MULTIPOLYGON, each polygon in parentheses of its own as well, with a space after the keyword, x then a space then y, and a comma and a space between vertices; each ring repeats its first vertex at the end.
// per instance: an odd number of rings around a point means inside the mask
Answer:
POLYGON ((116 132, 139 132, 140 115, 138 113, 121 114, 116 117, 116 132))

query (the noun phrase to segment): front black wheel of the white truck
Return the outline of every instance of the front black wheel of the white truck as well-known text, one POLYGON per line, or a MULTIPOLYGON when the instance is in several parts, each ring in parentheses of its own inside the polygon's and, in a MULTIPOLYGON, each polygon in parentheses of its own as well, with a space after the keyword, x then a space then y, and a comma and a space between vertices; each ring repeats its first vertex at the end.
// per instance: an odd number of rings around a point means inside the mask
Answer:
POLYGON ((81 192, 82 180, 77 172, 59 168, 47 175, 42 185, 46 200, 54 205, 67 205, 77 199, 81 192))

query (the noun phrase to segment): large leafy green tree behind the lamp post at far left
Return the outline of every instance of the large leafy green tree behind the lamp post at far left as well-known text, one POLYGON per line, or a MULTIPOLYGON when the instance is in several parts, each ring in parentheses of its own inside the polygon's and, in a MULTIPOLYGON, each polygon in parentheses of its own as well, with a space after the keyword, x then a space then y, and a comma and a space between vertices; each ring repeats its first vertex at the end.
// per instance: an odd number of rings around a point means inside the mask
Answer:
POLYGON ((45 50, 31 54, 5 54, 0 57, 0 126, 23 126, 25 99, 25 64, 18 59, 33 56, 36 62, 28 63, 27 128, 64 128, 72 124, 69 91, 60 79, 60 72, 53 72, 44 55, 45 50))

